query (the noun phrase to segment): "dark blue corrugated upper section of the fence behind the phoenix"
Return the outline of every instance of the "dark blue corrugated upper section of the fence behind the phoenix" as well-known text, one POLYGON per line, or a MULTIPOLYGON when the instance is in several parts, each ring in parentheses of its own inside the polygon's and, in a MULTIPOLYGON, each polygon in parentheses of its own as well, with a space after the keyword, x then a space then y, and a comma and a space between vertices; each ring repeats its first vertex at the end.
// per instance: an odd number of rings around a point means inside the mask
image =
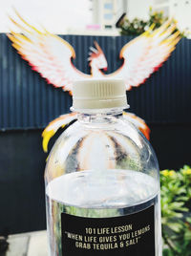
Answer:
MULTIPOLYGON (((62 36, 74 46, 74 65, 89 73, 89 47, 96 40, 108 60, 108 73, 121 65, 120 49, 132 37, 62 36)), ((191 123, 191 40, 181 39, 170 59, 144 85, 127 93, 131 111, 148 123, 191 123)), ((0 34, 0 129, 44 128, 49 121, 68 113, 71 96, 47 85, 0 34)))

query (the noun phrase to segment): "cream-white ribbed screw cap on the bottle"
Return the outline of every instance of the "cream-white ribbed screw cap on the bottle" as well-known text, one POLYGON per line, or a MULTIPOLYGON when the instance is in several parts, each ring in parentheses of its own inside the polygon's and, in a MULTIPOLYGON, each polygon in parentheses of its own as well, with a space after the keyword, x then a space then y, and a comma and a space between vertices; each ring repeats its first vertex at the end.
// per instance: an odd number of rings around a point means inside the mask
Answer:
POLYGON ((122 79, 90 78, 74 82, 72 110, 128 107, 125 83, 122 79))

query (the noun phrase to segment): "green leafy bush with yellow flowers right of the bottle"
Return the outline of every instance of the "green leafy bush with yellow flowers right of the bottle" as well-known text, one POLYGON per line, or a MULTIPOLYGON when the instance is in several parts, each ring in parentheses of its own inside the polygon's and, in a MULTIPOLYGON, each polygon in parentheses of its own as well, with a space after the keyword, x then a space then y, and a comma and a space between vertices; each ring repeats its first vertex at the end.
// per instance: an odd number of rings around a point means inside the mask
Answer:
POLYGON ((191 167, 163 170, 160 182, 163 256, 190 256, 191 167))

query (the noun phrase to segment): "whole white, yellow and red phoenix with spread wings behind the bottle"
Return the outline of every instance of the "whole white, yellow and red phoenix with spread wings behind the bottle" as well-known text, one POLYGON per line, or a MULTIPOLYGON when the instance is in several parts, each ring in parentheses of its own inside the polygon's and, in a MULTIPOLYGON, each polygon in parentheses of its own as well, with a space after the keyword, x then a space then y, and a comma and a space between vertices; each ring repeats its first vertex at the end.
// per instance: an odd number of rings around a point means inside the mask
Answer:
MULTIPOLYGON (((17 52, 29 62, 32 70, 38 72, 49 84, 62 88, 73 94, 73 83, 77 79, 90 77, 122 78, 126 90, 138 87, 158 71, 159 67, 175 50, 180 41, 177 24, 169 19, 159 29, 152 25, 132 41, 126 43, 119 53, 122 65, 112 74, 104 74, 108 63, 102 49, 95 42, 90 47, 89 65, 91 74, 84 74, 74 67, 74 48, 66 40, 45 29, 38 30, 28 23, 17 11, 17 20, 10 17, 11 22, 21 30, 21 33, 11 31, 8 37, 17 52)), ((48 151, 48 142, 55 132, 76 118, 76 113, 62 115, 54 119, 43 131, 43 149, 48 151)), ((145 121, 134 114, 124 113, 124 117, 133 122, 149 139, 150 130, 145 121)))

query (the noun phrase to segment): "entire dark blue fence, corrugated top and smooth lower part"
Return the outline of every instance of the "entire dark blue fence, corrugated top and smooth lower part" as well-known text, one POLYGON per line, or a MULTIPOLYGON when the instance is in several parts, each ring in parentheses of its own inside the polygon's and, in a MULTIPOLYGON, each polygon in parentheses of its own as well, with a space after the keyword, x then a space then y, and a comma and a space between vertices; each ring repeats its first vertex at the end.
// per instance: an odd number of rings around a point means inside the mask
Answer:
MULTIPOLYGON (((108 73, 132 37, 62 36, 74 46, 74 65, 89 73, 89 47, 96 40, 108 60, 108 73)), ((131 112, 151 128, 160 168, 191 164, 191 40, 181 39, 171 57, 145 84, 127 92, 131 112)), ((0 34, 0 234, 45 228, 43 173, 47 155, 42 129, 68 113, 71 96, 48 85, 0 34)), ((51 144, 53 145, 53 140, 51 144)))

